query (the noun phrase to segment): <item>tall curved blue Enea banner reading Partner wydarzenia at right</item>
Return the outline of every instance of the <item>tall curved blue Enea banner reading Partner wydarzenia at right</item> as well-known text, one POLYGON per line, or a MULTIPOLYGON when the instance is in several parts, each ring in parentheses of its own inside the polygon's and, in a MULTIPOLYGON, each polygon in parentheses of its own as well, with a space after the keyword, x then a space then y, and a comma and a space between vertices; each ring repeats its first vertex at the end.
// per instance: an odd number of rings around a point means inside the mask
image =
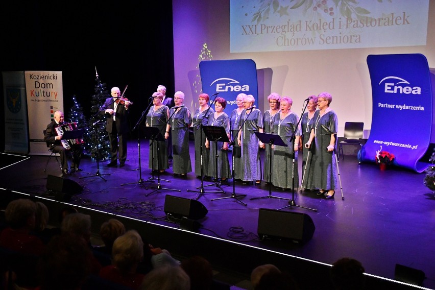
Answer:
POLYGON ((432 130, 432 86, 427 59, 421 54, 369 55, 373 95, 370 137, 361 150, 363 161, 376 151, 395 155, 395 164, 417 172, 429 165, 426 153, 432 130))

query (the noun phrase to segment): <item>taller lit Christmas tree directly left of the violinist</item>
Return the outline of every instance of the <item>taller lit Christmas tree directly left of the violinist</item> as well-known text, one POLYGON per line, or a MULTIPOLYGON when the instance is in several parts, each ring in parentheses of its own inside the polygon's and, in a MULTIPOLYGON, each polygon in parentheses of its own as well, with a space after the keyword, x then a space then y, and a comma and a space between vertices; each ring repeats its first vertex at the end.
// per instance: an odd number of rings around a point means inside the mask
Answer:
POLYGON ((85 152, 91 157, 96 158, 98 156, 99 160, 106 160, 110 158, 109 135, 106 131, 106 115, 98 114, 98 111, 108 98, 109 92, 106 89, 106 84, 101 82, 96 73, 96 68, 95 76, 95 94, 92 95, 91 99, 91 118, 89 119, 86 133, 83 138, 85 141, 84 147, 85 152))

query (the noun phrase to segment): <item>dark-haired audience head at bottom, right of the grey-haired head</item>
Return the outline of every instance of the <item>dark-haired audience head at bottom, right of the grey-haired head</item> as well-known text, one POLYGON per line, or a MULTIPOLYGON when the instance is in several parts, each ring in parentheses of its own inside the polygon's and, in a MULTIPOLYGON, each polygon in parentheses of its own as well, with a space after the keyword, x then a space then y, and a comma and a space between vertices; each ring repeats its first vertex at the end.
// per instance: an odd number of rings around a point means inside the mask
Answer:
POLYGON ((213 282, 213 269, 205 258, 194 256, 183 260, 181 268, 190 278, 190 290, 210 289, 213 282))

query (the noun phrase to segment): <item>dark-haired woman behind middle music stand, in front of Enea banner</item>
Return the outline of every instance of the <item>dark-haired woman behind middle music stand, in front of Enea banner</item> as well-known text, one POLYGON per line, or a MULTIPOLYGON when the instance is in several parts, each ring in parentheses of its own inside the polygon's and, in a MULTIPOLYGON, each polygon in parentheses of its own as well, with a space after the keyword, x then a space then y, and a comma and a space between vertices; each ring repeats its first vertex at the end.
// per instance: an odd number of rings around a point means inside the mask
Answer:
MULTIPOLYGON (((215 112, 210 115, 208 119, 208 126, 223 127, 228 139, 230 139, 230 118, 224 112, 227 106, 227 101, 224 98, 216 98, 214 101, 215 112)), ((205 139, 205 147, 210 149, 210 158, 208 163, 208 173, 218 181, 221 179, 221 183, 228 183, 227 179, 230 178, 230 162, 228 161, 228 142, 215 142, 205 139), (217 146, 216 146, 217 143, 217 146), (216 151, 217 148, 217 151, 216 151), (216 162, 216 152, 218 155, 216 162), (217 163, 217 165, 216 165, 217 163), (216 173, 216 168, 218 172, 216 173)))

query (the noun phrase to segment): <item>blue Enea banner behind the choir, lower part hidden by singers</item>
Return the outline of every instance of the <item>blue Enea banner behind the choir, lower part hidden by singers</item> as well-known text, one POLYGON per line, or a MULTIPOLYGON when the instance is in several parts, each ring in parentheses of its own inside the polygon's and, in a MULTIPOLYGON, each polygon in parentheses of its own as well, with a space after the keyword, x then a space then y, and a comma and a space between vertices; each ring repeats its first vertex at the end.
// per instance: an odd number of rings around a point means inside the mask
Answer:
POLYGON ((252 59, 205 60, 199 67, 202 91, 210 96, 210 103, 218 92, 227 101, 228 116, 237 108, 236 98, 242 92, 252 94, 258 108, 257 68, 252 59))

